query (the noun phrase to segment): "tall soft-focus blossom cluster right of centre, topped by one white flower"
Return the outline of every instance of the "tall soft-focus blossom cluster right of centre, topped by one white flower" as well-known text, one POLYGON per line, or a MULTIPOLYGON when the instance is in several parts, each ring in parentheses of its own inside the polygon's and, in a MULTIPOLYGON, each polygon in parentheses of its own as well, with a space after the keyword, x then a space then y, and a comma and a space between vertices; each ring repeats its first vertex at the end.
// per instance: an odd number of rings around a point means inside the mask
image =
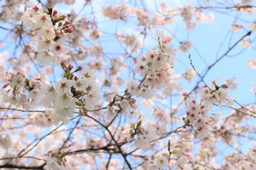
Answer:
POLYGON ((164 31, 156 30, 156 37, 159 44, 146 55, 140 55, 135 61, 133 72, 144 77, 143 84, 133 79, 128 84, 130 94, 138 98, 149 99, 154 89, 161 88, 164 88, 167 95, 171 95, 175 88, 175 80, 170 78, 174 72, 172 64, 176 57, 175 50, 166 41, 162 41, 164 31))

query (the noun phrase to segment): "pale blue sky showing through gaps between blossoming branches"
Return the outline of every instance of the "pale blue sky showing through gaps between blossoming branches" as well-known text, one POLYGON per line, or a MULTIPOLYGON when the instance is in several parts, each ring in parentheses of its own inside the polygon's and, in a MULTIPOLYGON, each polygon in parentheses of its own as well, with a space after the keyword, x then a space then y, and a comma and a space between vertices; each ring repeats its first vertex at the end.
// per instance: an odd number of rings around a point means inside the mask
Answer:
MULTIPOLYGON (((129 1, 130 2, 130 1, 129 1)), ((188 4, 187 1, 185 0, 169 0, 169 1, 162 1, 162 2, 166 2, 167 4, 169 4, 172 7, 177 7, 177 6, 183 6, 184 4, 188 4)), ((220 1, 219 1, 220 2, 220 1)), ((235 1, 238 2, 238 1, 235 1)), ((116 1, 94 1, 92 3, 93 6, 93 11, 98 11, 99 9, 101 9, 101 5, 105 6, 105 4, 116 4, 116 1)), ((149 9, 149 11, 151 12, 155 12, 155 1, 153 0, 145 0, 145 3, 149 9)), ((156 1, 157 5, 160 4, 160 1, 156 1)), ((253 2, 255 5, 255 1, 253 2)), ((84 1, 76 1, 76 3, 74 5, 66 5, 66 4, 58 4, 54 7, 54 9, 60 10, 61 13, 66 14, 69 13, 71 11, 71 9, 75 9, 76 11, 80 11, 80 9, 83 7, 84 1)), ((198 5, 197 2, 194 2, 194 4, 198 5)), ((130 5, 134 5, 134 1, 132 3, 130 3, 130 5)), ((137 1, 136 3, 137 7, 140 8, 141 4, 140 1, 137 1)), ((211 6, 211 4, 210 4, 211 6)), ((217 5, 212 5, 212 6, 217 6, 217 5)), ((84 12, 82 12, 80 14, 80 16, 85 15, 85 13, 90 13, 91 12, 91 8, 90 6, 85 7, 84 12)), ((166 30, 168 30, 170 33, 174 33, 176 30, 176 37, 182 41, 182 40, 192 40, 193 42, 193 46, 196 47, 198 53, 204 58, 204 60, 207 62, 208 65, 211 65, 216 58, 219 58, 223 53, 225 53, 228 48, 237 41, 239 40, 241 37, 243 37, 247 32, 246 31, 242 31, 241 33, 233 33, 231 36, 231 32, 230 32, 230 28, 231 28, 231 24, 234 22, 234 16, 236 15, 236 12, 229 12, 229 15, 232 16, 228 16, 225 14, 222 14, 220 12, 214 12, 211 11, 214 16, 215 19, 213 21, 212 24, 206 24, 206 23, 199 23, 196 26, 195 30, 191 30, 189 32, 186 31, 186 27, 184 22, 182 21, 181 18, 176 18, 175 21, 172 23, 172 25, 167 25, 164 26, 165 28, 165 33, 167 33, 166 30), (227 39, 224 41, 223 45, 220 47, 220 44, 222 42, 222 40, 224 39, 224 37, 228 34, 227 39), (232 39, 230 39, 230 37, 232 37, 232 39), (216 54, 216 52, 219 50, 218 55, 216 54)), ((211 12, 207 12, 206 14, 209 14, 211 12)), ((90 17, 90 14, 85 15, 87 17, 90 17)), ((102 32, 111 32, 114 33, 116 31, 116 20, 113 21, 108 21, 108 22, 104 22, 107 21, 107 18, 104 18, 101 14, 95 13, 95 17, 97 18, 97 21, 99 22, 98 27, 102 32), (102 21, 102 22, 101 22, 102 21)), ((253 16, 248 16, 247 14, 243 14, 241 15, 239 18, 245 20, 245 21, 254 21, 255 20, 255 15, 253 16)), ((130 22, 128 23, 124 23, 124 22, 118 22, 118 26, 117 26, 117 30, 118 31, 124 31, 125 33, 135 33, 138 34, 138 32, 136 32, 134 30, 136 25, 136 21, 133 18, 129 18, 130 22)), ((236 22, 237 24, 244 24, 245 25, 245 30, 249 30, 249 24, 245 23, 243 21, 238 20, 236 22)), ((8 27, 7 24, 1 24, 1 26, 3 27, 8 27)), ((153 35, 155 34, 154 29, 152 30, 153 35)), ((1 30, 0 32, 0 39, 4 39, 6 35, 6 31, 1 30)), ((252 40, 254 40, 254 46, 256 46, 255 44, 255 32, 253 32, 251 34, 252 36, 252 40)), ((114 41, 114 38, 110 38, 111 39, 111 43, 109 43, 109 35, 108 34, 104 34, 103 36, 100 38, 100 44, 104 47, 105 52, 106 53, 112 53, 112 52, 123 52, 122 48, 119 46, 118 42, 114 41), (113 40, 113 41, 112 41, 113 40)), ((96 43, 98 41, 95 41, 94 43, 96 43)), ((148 38, 146 38, 145 41, 145 49, 150 49, 152 48, 154 45, 157 44, 157 41, 155 39, 153 39, 151 36, 148 36, 148 38)), ((179 42, 176 41, 176 39, 173 39, 171 44, 174 47, 178 47, 179 46, 179 42)), ((85 42, 85 46, 89 46, 88 43, 85 42)), ((7 49, 1 48, 0 51, 2 53, 2 51, 8 51, 10 54, 12 54, 12 51, 14 49, 14 45, 10 46, 7 49)), ((235 55, 237 53, 240 53, 240 51, 243 50, 243 47, 240 46, 239 44, 229 53, 230 56, 235 55)), ((193 62, 193 65, 195 66, 196 70, 199 73, 204 73, 205 68, 207 68, 207 66, 205 65, 205 63, 203 62, 203 60, 200 59, 199 54, 197 53, 197 51, 192 47, 190 49, 190 51, 188 53, 183 53, 183 52, 178 52, 177 53, 177 60, 175 62, 174 70, 175 70, 175 74, 182 74, 184 73, 184 71, 188 68, 191 67, 190 66, 190 61, 188 59, 188 54, 191 54, 191 59, 193 62), (181 63, 181 62, 182 63, 181 63), (184 65, 186 65, 187 67, 185 67, 184 65)), ((146 53, 146 51, 144 51, 143 53, 146 53)), ((114 54, 114 53, 113 53, 114 54)), ((136 56, 136 54, 134 54, 134 56, 136 56)), ((236 97, 236 101, 238 101, 238 103, 243 104, 243 103, 255 103, 256 102, 256 98, 255 95, 253 95, 250 90, 252 89, 252 82, 255 82, 256 79, 256 72, 255 69, 248 69, 247 66, 247 60, 249 59, 255 59, 255 50, 253 48, 248 48, 246 50, 244 50, 242 53, 235 55, 234 57, 224 57, 220 62, 218 62, 214 67, 212 67, 212 69, 209 71, 209 73, 205 76, 204 81, 207 84, 210 84, 211 81, 215 78, 219 78, 219 81, 217 81, 217 84, 223 84, 224 80, 229 78, 229 77, 236 77, 235 81, 238 84, 238 87, 235 91, 232 91, 232 93, 230 94, 231 97, 236 97)), ((93 57, 89 57, 85 60, 85 62, 88 62, 90 59, 95 59, 93 57)), ((126 71, 122 71, 120 72, 121 78, 128 78, 128 74, 126 71)), ((51 78, 52 76, 50 76, 51 78)), ((137 77, 139 78, 139 77, 137 77)), ((58 78, 57 78, 58 79, 58 78)), ((98 74, 98 79, 101 79, 101 75, 98 74)), ((200 80, 200 78, 196 75, 195 78, 193 79, 192 83, 188 83, 185 79, 181 78, 179 80, 180 83, 184 84, 184 89, 193 89, 193 87, 195 86, 195 83, 200 80)), ((123 89, 121 88, 121 91, 124 91, 125 87, 123 87, 123 89)), ((138 102, 140 102, 141 100, 139 99, 138 102)), ((175 97, 173 97, 172 99, 172 104, 174 105, 178 105, 179 104, 179 100, 175 97)), ((169 100, 167 100, 167 103, 164 104, 166 106, 170 106, 169 100)), ((140 109, 142 109, 144 112, 148 113, 147 117, 149 119, 151 119, 151 111, 150 109, 146 110, 143 109, 142 107, 140 107, 140 109)), ((184 110, 184 108, 183 108, 184 110)), ((213 110, 218 110, 217 107, 214 107, 213 110)), ((224 116, 228 113, 231 112, 231 109, 229 110, 223 110, 221 116, 224 116)), ((212 113, 215 113, 214 111, 212 113)), ((252 126, 255 126, 255 119, 251 118, 249 120, 251 122, 252 126)), ((247 123, 247 122, 244 122, 247 123)), ((247 145, 241 145, 241 150, 242 151, 246 151, 248 149, 248 147, 252 146, 252 142, 248 142, 246 140, 242 140, 242 143, 246 143, 247 145)), ((225 146, 222 145, 222 143, 220 142, 219 144, 219 148, 224 149, 225 146)), ((225 150, 225 152, 231 152, 232 149, 227 149, 225 150)), ((225 153, 224 152, 224 153, 225 153)), ((221 160, 221 158, 219 158, 221 160)), ((218 160, 218 159, 217 159, 218 160)))

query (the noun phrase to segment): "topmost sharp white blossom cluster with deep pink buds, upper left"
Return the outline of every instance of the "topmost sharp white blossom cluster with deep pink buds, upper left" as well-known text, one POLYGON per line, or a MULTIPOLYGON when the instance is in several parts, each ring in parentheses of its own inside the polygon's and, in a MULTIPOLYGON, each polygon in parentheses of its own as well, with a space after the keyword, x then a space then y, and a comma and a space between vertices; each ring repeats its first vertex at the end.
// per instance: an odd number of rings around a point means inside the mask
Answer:
POLYGON ((49 65, 60 63, 61 60, 67 60, 70 58, 66 55, 70 51, 70 48, 65 44, 64 33, 73 32, 73 27, 70 26, 70 21, 66 21, 64 24, 61 22, 67 16, 58 16, 57 10, 52 11, 52 8, 48 8, 48 11, 42 11, 34 3, 30 3, 31 9, 23 12, 20 20, 23 21, 25 27, 30 27, 31 30, 36 30, 38 36, 35 36, 32 41, 37 45, 38 62, 42 62, 43 65, 49 65), (55 25, 58 23, 58 28, 55 29, 55 25))

